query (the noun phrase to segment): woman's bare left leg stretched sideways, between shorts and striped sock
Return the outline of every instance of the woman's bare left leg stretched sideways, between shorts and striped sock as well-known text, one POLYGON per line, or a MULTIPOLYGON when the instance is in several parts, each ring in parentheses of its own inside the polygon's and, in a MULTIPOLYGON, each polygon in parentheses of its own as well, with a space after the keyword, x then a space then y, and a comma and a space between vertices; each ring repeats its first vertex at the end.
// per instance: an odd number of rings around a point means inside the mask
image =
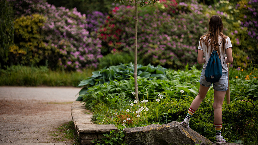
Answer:
POLYGON ((207 92, 209 90, 209 87, 204 87, 200 84, 200 90, 199 93, 197 94, 197 96, 193 99, 193 102, 191 104, 191 108, 194 110, 197 110, 201 104, 201 102, 203 101, 203 99, 206 97, 207 92))

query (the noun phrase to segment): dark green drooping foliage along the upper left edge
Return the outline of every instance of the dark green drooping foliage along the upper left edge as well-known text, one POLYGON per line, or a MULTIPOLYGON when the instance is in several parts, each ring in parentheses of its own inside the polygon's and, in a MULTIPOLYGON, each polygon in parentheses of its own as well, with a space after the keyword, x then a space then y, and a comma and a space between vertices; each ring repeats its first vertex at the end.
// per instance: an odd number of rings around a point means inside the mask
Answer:
POLYGON ((8 61, 8 47, 14 43, 12 9, 6 0, 0 1, 0 68, 8 61))

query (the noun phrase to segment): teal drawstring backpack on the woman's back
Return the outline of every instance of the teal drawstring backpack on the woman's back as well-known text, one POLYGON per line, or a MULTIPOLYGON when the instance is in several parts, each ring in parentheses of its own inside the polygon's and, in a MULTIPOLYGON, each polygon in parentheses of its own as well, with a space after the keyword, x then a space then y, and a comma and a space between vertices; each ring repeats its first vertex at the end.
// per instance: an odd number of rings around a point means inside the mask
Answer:
MULTIPOLYGON (((222 43, 222 41, 221 41, 221 43, 222 43)), ((220 46, 220 44, 219 44, 219 46, 220 46)), ((212 48, 212 50, 213 51, 210 55, 209 61, 208 61, 207 66, 205 68, 204 76, 205 76, 205 80, 207 82, 216 83, 216 82, 219 81, 220 77, 222 76, 222 67, 224 65, 226 53, 225 53, 225 56, 224 56, 223 64, 221 65, 221 61, 219 59, 218 52, 215 51, 213 48, 212 48)))

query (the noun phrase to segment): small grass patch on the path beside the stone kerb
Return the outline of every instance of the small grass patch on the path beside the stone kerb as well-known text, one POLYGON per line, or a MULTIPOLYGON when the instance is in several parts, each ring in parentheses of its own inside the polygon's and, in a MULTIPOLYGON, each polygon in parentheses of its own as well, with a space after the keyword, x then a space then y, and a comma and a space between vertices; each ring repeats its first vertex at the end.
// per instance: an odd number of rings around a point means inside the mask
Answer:
POLYGON ((73 121, 61 125, 57 131, 51 132, 50 135, 53 136, 53 140, 70 142, 73 143, 72 145, 79 144, 73 121))

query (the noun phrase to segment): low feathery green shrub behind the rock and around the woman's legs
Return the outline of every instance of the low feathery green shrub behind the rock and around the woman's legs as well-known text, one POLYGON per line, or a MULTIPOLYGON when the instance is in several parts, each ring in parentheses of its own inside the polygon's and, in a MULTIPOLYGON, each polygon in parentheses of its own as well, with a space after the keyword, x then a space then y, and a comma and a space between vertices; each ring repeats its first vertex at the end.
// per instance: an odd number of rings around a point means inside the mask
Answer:
MULTIPOLYGON (((213 91, 211 90, 190 120, 190 128, 210 140, 215 140, 213 97, 213 91)), ((250 101, 247 98, 243 99, 250 101)), ((193 97, 184 97, 184 99, 179 101, 175 98, 171 99, 169 96, 165 96, 164 99, 160 99, 158 111, 159 122, 166 123, 163 121, 163 118, 166 117, 167 120, 170 121, 183 121, 192 101, 193 97)), ((223 103, 222 134, 228 141, 234 142, 237 140, 243 140, 244 144, 252 143, 253 141, 254 144, 257 143, 257 138, 246 137, 247 131, 252 132, 255 135, 255 133, 257 134, 258 129, 258 104, 257 102, 254 102, 256 106, 253 106, 251 102, 236 100, 231 102, 229 105, 225 102, 223 103), (247 138, 249 138, 249 140, 247 140, 247 138)), ((149 122, 155 121, 156 103, 156 101, 149 102, 149 112, 147 114, 149 122)))

